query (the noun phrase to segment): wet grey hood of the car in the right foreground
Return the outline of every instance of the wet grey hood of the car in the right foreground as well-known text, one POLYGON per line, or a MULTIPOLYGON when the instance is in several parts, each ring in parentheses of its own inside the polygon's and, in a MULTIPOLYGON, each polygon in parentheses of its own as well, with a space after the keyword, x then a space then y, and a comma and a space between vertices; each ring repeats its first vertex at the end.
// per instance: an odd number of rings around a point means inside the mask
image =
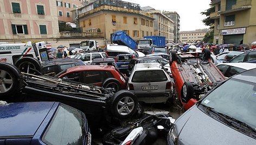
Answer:
POLYGON ((174 125, 178 144, 255 144, 255 139, 240 133, 191 107, 174 125))

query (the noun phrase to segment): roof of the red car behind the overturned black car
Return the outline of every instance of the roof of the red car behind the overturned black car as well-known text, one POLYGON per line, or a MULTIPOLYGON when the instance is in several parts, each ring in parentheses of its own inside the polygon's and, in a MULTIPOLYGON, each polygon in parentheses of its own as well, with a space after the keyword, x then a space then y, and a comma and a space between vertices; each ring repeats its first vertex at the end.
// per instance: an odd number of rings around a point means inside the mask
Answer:
POLYGON ((84 71, 84 70, 113 70, 115 69, 112 65, 79 65, 77 67, 68 68, 66 73, 73 71, 84 71))

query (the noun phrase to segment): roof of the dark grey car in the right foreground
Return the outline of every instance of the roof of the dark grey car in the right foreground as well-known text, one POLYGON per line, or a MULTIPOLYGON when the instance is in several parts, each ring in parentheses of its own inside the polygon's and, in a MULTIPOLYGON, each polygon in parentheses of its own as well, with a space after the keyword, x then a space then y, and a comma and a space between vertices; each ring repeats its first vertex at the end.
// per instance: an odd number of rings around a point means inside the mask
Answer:
POLYGON ((250 70, 247 70, 247 71, 243 71, 242 73, 239 73, 239 74, 233 76, 232 78, 236 78, 236 79, 239 79, 239 80, 255 83, 256 82, 255 74, 256 74, 256 68, 255 69, 250 69, 250 70))

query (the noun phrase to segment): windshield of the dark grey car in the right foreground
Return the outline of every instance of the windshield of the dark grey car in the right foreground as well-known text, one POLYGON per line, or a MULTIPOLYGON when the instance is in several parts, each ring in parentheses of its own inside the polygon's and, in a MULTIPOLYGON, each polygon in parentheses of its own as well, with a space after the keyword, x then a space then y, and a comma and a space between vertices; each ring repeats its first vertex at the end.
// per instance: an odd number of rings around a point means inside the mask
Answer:
POLYGON ((201 102, 220 114, 256 128, 256 83, 232 78, 216 88, 201 102))

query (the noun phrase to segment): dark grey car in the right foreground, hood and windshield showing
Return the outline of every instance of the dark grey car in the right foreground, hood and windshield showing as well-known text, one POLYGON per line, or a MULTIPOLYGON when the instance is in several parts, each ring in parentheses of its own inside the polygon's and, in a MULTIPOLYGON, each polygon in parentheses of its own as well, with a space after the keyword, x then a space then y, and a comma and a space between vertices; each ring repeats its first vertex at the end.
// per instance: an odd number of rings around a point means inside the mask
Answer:
POLYGON ((168 144, 255 144, 256 69, 229 78, 178 117, 168 144))

